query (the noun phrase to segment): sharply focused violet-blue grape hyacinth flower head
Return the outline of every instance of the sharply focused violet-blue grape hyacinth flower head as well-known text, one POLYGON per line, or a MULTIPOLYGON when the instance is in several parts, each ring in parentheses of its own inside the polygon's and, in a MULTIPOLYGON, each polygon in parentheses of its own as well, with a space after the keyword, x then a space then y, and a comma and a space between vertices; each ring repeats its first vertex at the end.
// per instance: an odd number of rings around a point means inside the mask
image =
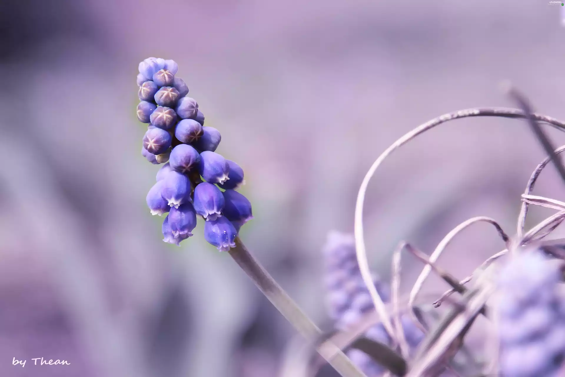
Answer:
POLYGON ((178 70, 174 60, 147 58, 139 64, 137 118, 149 124, 141 154, 153 164, 164 163, 147 206, 153 215, 169 213, 163 241, 180 245, 192 236, 198 214, 205 220, 206 241, 229 250, 241 226, 253 218, 251 203, 236 191, 244 184, 244 171, 215 153, 220 132, 204 127, 198 103, 175 77, 178 70))

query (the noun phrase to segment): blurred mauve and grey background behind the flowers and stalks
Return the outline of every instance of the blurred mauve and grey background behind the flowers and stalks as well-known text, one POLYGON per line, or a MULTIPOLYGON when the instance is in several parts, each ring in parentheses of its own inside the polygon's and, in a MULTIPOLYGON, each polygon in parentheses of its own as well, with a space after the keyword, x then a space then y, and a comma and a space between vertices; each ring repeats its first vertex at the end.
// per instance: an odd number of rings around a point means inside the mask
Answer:
MULTIPOLYGON (((202 224, 177 248, 146 209, 158 167, 140 155, 140 60, 179 63, 222 133, 219 153, 244 167, 255 219, 242 239, 328 329, 320 249, 329 230, 353 231, 359 184, 386 146, 445 112, 513 106, 502 80, 565 118, 561 11, 545 0, 2 0, 0 375, 279 371, 289 324, 202 224)), ((543 157, 507 119, 447 123, 400 149, 367 193, 373 270, 388 279, 399 241, 431 252, 472 216, 513 234, 543 157)), ((565 194, 553 167, 536 193, 565 194)), ((528 224, 546 215, 532 210, 528 224)), ((503 247, 477 225, 440 264, 463 278, 503 247)), ((421 267, 404 259, 403 291, 421 267)), ((424 291, 445 289, 432 278, 424 291)))

